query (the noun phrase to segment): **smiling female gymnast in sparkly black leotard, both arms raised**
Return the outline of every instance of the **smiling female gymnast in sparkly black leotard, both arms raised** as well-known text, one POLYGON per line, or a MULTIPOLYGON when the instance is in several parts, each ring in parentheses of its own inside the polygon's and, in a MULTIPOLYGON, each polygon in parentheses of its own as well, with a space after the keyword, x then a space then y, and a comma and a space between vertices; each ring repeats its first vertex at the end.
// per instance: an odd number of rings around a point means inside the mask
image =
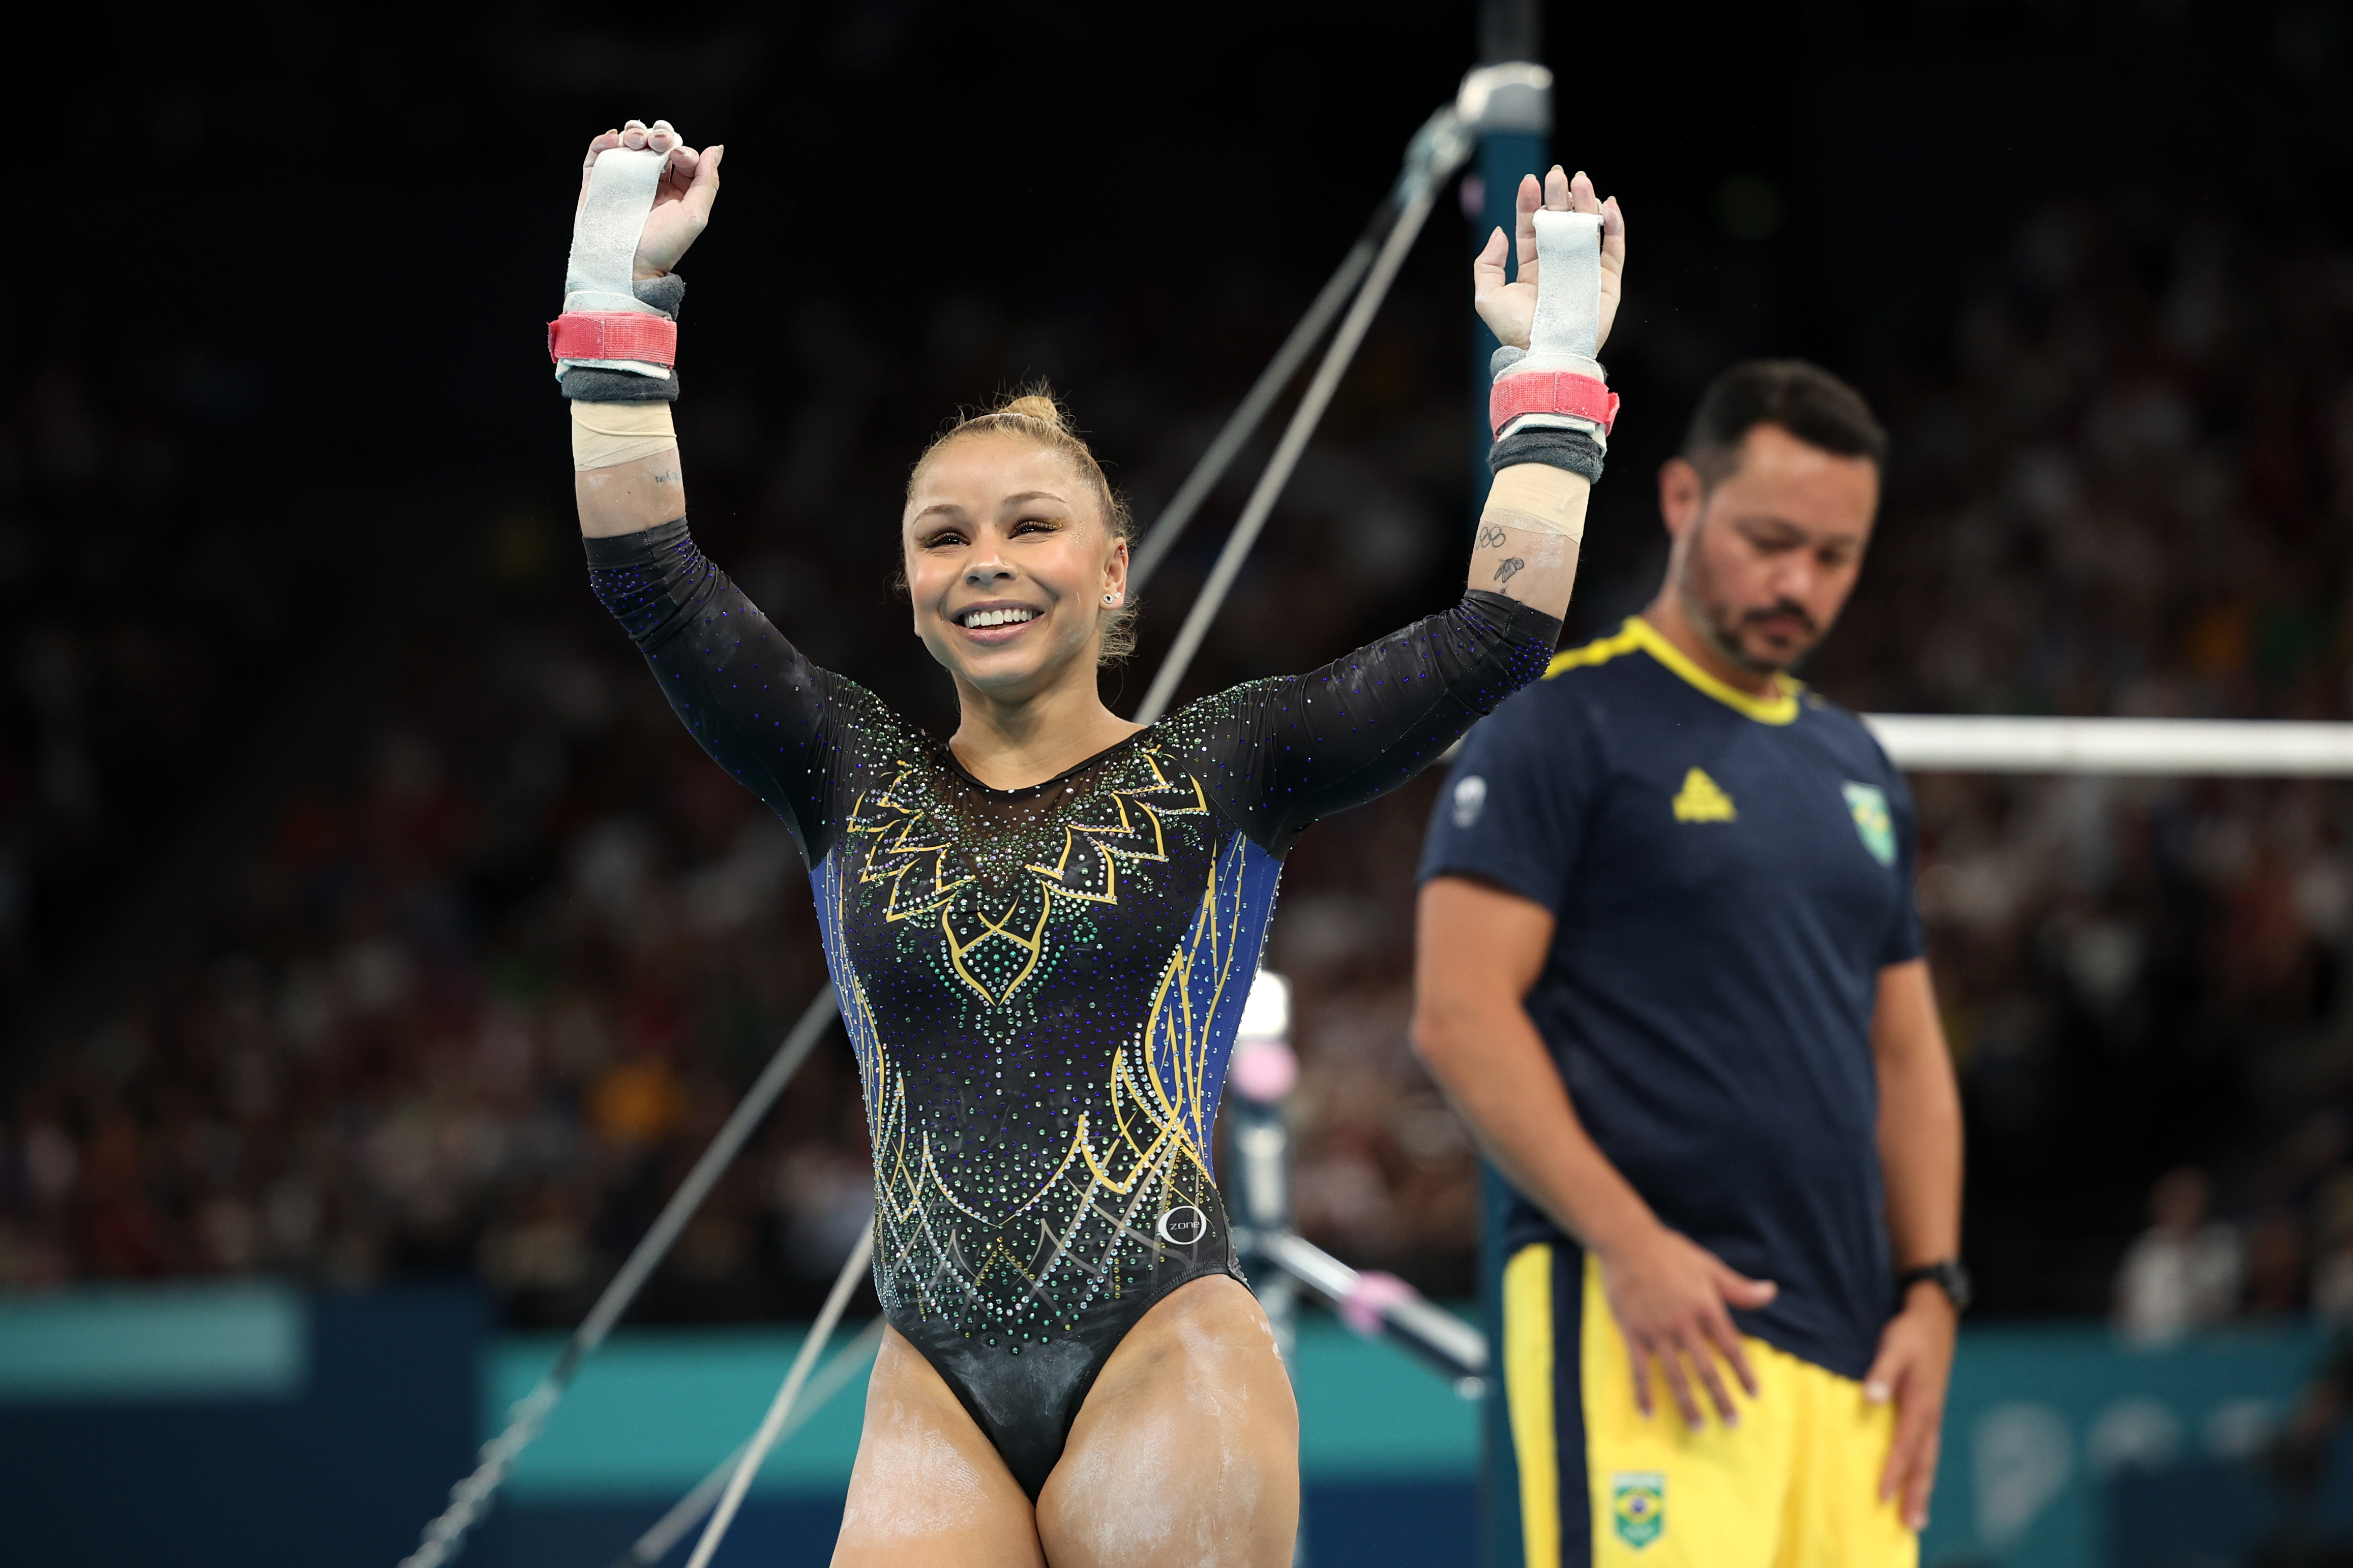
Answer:
MULTIPOLYGON (((588 165, 609 148, 666 155, 633 289, 675 320, 722 148, 635 120, 588 165)), ((1539 207, 1602 214, 1605 334, 1624 221, 1560 169, 1520 190, 1520 282, 1501 230, 1478 259, 1480 313, 1527 343, 1539 207)), ((798 837, 856 1046, 889 1333, 833 1561, 1289 1563, 1299 1410, 1209 1173, 1226 1053, 1292 839, 1544 672, 1602 425, 1499 442, 1447 614, 1136 726, 1096 686, 1127 642, 1127 508, 1049 397, 962 418, 899 517, 913 630, 962 712, 941 743, 694 548, 675 378, 560 364, 595 592, 798 837)))

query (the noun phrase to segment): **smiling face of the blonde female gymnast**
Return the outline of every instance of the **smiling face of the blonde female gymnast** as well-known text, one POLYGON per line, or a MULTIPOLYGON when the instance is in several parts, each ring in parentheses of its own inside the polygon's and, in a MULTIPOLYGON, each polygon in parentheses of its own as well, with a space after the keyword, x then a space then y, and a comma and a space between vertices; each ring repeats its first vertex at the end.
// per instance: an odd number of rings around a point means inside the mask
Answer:
POLYGON ((946 442, 915 473, 901 545, 915 635, 960 686, 998 703, 1094 691, 1127 545, 1066 456, 1007 433, 946 442))

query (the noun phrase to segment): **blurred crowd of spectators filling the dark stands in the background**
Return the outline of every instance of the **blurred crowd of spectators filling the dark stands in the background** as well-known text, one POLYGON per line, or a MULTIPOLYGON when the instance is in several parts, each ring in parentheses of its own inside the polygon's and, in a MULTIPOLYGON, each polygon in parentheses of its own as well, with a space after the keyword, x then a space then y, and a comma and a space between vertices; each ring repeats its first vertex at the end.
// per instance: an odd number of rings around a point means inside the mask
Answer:
MULTIPOLYGON (((1384 315, 1188 691, 1308 668, 1452 597, 1452 289, 1407 287, 1384 315)), ((906 463, 941 414, 1049 376, 1151 517, 1297 306, 1247 282, 1193 315, 948 299, 894 339, 809 301, 786 322, 788 374, 722 367, 680 404, 696 534, 814 658, 951 722, 887 588, 906 463)), ((1729 357, 1640 282, 1621 320, 1612 369, 1649 430, 1619 442, 1624 494, 1600 520, 1626 538, 1593 552, 1572 635, 1647 597, 1645 465, 1729 357)), ((1866 710, 2348 717, 2353 249, 2240 207, 2057 205, 1922 322, 1840 364, 1897 465, 1809 679, 1866 710)), ((240 611, 275 602, 240 583, 280 567, 167 529, 191 489, 169 454, 202 444, 198 416, 108 411, 101 383, 64 360, 0 444, 0 592, 26 604, 0 752, 16 1006, 45 907, 127 875, 219 731, 221 672, 282 632, 240 611), (120 538, 153 550, 96 543, 120 538), (26 599, 38 550, 82 550, 87 597, 26 599), (134 818, 146 837, 92 825, 134 818)), ((558 482, 560 449, 551 395, 539 456, 558 482)), ((1141 693, 1240 489, 1151 585, 1113 705, 1141 693)), ((358 741, 273 797, 167 964, 71 1039, 16 1046, 0 1286, 475 1272, 513 1321, 565 1321, 609 1274, 821 966, 791 839, 694 750, 572 550, 567 494, 539 480, 421 550, 376 675, 336 698, 369 715, 358 741)), ((1475 1161, 1405 1041, 1433 790, 1301 842, 1268 961, 1297 985, 1304 1229, 1459 1295, 1475 1161)), ((2113 1305, 2141 1338, 2353 1314, 2346 788, 1925 776, 1915 792, 1986 1302, 2113 1305)), ((835 1034, 647 1312, 807 1312, 868 1204, 835 1034)))

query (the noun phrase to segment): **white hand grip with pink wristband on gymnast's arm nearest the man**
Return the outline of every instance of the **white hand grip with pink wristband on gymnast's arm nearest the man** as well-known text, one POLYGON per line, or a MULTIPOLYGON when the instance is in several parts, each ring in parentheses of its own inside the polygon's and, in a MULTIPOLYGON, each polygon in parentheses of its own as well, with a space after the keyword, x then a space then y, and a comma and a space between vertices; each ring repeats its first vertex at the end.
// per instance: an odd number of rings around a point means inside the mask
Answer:
POLYGON ((1584 430, 1602 449, 1617 395, 1602 371, 1602 216, 1537 212, 1537 320, 1527 355, 1494 378, 1487 400, 1497 440, 1513 430, 1584 430))

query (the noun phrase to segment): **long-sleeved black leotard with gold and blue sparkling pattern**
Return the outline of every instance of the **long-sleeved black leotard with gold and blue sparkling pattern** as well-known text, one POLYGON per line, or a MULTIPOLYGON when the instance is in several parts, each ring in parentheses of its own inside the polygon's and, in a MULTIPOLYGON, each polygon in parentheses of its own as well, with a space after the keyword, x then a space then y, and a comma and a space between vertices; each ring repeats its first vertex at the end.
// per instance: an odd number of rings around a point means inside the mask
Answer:
POLYGON ((1035 1497, 1127 1328, 1191 1279, 1240 1279, 1209 1128, 1282 853, 1541 675, 1560 623, 1468 592, 991 790, 802 658, 682 520, 591 538, 588 564, 694 738, 809 858, 882 1312, 1035 1497))

